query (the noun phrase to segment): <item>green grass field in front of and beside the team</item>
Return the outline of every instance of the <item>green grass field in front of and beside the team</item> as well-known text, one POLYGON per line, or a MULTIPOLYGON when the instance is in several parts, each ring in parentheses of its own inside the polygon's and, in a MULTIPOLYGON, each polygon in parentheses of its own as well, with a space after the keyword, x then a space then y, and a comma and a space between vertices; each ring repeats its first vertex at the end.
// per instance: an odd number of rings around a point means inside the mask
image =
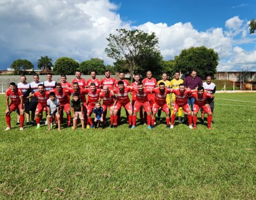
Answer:
POLYGON ((1 95, 0 200, 256 199, 256 94, 215 97, 213 130, 5 132, 1 95))

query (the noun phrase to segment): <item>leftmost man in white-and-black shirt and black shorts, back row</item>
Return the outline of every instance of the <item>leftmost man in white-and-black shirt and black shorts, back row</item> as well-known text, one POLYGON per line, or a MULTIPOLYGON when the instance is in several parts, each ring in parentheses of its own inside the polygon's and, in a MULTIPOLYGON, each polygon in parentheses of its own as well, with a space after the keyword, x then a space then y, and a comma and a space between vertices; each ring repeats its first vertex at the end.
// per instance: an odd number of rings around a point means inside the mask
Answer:
MULTIPOLYGON (((17 88, 19 88, 24 97, 24 110, 26 113, 26 125, 29 124, 29 100, 26 98, 29 96, 29 93, 31 92, 30 84, 26 82, 26 76, 22 75, 20 76, 20 83, 17 84, 17 88)), ((20 110, 17 108, 17 123, 16 125, 20 124, 20 110)))

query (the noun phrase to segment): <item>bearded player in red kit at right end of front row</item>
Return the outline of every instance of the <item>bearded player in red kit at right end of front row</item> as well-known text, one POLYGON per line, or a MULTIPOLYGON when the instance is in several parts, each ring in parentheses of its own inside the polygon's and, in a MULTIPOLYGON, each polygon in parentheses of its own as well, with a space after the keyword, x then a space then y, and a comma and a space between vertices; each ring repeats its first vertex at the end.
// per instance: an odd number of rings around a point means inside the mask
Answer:
POLYGON ((193 123, 194 129, 197 129, 197 113, 200 108, 203 109, 204 113, 207 113, 207 122, 208 122, 208 129, 212 129, 210 126, 212 120, 212 112, 210 110, 209 103, 207 103, 207 99, 213 100, 213 95, 204 91, 203 86, 198 86, 197 92, 193 92, 191 97, 195 98, 195 103, 193 107, 194 115, 193 115, 193 123))

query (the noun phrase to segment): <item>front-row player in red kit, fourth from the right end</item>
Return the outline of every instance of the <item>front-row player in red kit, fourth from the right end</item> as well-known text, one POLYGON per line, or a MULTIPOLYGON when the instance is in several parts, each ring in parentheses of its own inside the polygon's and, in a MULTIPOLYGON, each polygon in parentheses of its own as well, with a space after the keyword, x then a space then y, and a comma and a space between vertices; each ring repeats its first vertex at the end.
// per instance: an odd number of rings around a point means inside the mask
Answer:
MULTIPOLYGON (((130 86, 131 87, 131 86, 130 86)), ((151 129, 151 109, 148 100, 148 94, 151 94, 151 89, 144 89, 143 83, 139 82, 137 87, 131 87, 131 90, 135 92, 136 100, 133 105, 133 114, 132 114, 132 127, 134 129, 136 126, 137 113, 144 109, 147 113, 148 129, 151 129)))

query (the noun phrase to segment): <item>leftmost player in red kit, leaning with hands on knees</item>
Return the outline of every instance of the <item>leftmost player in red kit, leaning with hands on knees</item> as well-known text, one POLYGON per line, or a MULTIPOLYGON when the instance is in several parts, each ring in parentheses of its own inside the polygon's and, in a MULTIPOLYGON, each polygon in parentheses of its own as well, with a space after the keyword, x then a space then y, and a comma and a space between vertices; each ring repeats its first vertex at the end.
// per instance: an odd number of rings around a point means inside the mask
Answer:
POLYGON ((7 128, 5 130, 11 129, 11 113, 17 108, 20 110, 20 130, 23 130, 24 123, 24 99, 23 93, 20 89, 17 88, 15 83, 9 84, 9 89, 6 90, 6 106, 5 118, 7 123, 7 128), (11 103, 9 104, 9 98, 11 98, 11 103))

